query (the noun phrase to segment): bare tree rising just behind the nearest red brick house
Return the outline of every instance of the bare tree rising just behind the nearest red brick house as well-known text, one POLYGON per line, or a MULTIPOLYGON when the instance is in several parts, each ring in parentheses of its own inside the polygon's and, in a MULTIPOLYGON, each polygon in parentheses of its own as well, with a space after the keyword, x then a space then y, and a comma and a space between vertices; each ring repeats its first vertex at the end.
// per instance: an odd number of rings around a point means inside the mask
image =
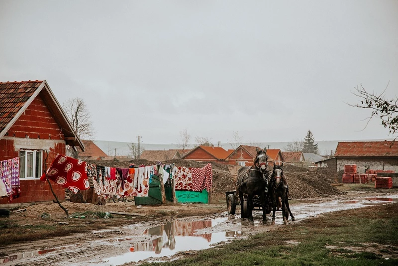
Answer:
MULTIPOLYGON (((91 121, 91 114, 85 101, 79 97, 70 98, 63 103, 62 108, 70 122, 72 122, 76 135, 81 139, 92 140, 95 131, 91 121)), ((79 148, 77 150, 70 149, 70 152, 72 157, 78 158, 81 150, 79 148)))

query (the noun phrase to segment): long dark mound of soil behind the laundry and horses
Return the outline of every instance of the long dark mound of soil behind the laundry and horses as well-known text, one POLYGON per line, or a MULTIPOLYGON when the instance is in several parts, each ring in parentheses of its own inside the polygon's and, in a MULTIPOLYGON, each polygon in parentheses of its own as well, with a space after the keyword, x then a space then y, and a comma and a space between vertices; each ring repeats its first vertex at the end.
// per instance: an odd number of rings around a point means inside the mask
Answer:
MULTIPOLYGON (((88 162, 108 167, 128 167, 130 164, 134 164, 135 166, 156 164, 156 162, 148 160, 119 161, 117 159, 88 162)), ((168 160, 164 163, 168 164, 172 162, 177 167, 203 167, 209 163, 184 159, 168 160)), ((217 162, 210 163, 213 170, 213 197, 222 197, 226 191, 236 190, 236 177, 232 176, 228 171, 228 166, 217 162)), ((284 174, 288 179, 290 195, 295 199, 329 197, 342 193, 331 185, 332 183, 337 183, 339 178, 338 173, 327 168, 309 170, 284 164, 284 174)))

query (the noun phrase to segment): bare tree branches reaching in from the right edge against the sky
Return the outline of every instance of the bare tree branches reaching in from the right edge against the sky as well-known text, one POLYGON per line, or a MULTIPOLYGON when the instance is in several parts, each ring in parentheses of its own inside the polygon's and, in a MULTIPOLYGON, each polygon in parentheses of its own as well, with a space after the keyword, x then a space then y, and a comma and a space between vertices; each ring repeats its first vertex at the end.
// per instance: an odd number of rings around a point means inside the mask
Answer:
MULTIPOLYGON (((387 84, 387 87, 388 86, 389 84, 387 84)), ((364 87, 360 85, 360 87, 355 88, 355 92, 353 92, 353 94, 359 97, 361 102, 354 105, 348 105, 372 110, 372 114, 368 118, 366 126, 368 126, 373 117, 380 118, 382 120, 382 125, 390 130, 389 134, 394 136, 395 141, 398 137, 398 135, 396 135, 398 132, 398 98, 396 96, 395 99, 386 99, 384 93, 386 92, 387 87, 381 94, 377 94, 375 92, 367 92, 364 87)))

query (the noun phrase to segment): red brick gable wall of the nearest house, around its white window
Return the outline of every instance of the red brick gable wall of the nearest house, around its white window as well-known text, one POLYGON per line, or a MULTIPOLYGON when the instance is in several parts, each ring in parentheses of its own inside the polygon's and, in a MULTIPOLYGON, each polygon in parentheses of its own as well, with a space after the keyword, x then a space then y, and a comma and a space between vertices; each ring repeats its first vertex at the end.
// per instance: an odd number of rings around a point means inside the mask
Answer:
MULTIPOLYGON (((12 159, 19 156, 20 149, 41 150, 47 149, 48 158, 46 168, 55 159, 57 153, 65 155, 64 134, 48 111, 40 96, 29 105, 0 139, 0 160, 12 159), (28 136, 28 137, 26 137, 28 136)), ((43 151, 43 162, 47 154, 43 151)), ((59 200, 65 200, 65 188, 52 183, 53 190, 59 200)), ((12 203, 53 200, 47 182, 39 179, 20 179, 21 194, 12 203)), ((9 203, 7 198, 0 199, 0 204, 9 203)))

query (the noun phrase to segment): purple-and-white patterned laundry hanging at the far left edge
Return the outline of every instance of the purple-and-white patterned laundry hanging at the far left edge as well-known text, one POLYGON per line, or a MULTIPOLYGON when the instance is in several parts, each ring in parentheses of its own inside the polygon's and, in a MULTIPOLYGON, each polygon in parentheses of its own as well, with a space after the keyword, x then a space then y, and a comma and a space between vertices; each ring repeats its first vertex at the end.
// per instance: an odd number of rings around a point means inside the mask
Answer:
POLYGON ((9 201, 19 197, 19 157, 0 161, 0 182, 0 197, 7 196, 9 201))

